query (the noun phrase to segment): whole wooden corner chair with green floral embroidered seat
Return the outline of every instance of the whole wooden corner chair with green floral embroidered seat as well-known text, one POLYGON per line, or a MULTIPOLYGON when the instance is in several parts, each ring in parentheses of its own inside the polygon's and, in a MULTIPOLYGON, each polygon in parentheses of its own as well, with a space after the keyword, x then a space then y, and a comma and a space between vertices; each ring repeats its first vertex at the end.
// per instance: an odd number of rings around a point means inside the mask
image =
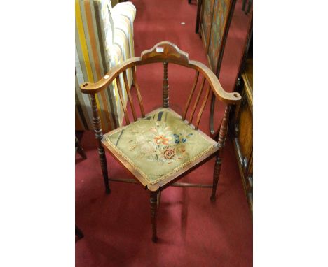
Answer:
MULTIPOLYGON (((152 240, 156 242, 156 214, 160 192, 170 185, 179 187, 211 187, 211 201, 215 201, 215 192, 221 170, 221 159, 226 140, 228 127, 228 115, 230 105, 238 103, 241 99, 238 93, 225 92, 221 87, 215 74, 204 64, 189 60, 188 54, 177 48, 177 45, 168 41, 156 44, 150 50, 142 52, 141 57, 133 57, 114 67, 98 82, 86 82, 81 85, 81 92, 90 94, 93 108, 93 127, 95 137, 98 140, 98 153, 106 192, 109 194, 109 180, 121 182, 135 182, 141 184, 150 192, 151 204, 151 226, 153 231, 152 240), (139 92, 135 66, 163 62, 163 106, 150 113, 144 113, 142 96, 139 92), (169 108, 169 85, 168 64, 178 64, 196 70, 193 87, 189 98, 186 100, 184 113, 179 115, 169 108), (142 114, 137 118, 132 101, 130 87, 127 82, 127 70, 131 68, 133 83, 137 93, 139 108, 142 114), (120 75, 123 76, 125 88, 127 89, 128 101, 133 115, 130 122, 122 97, 120 75), (187 111, 191 106, 191 99, 196 91, 196 85, 200 75, 203 75, 200 89, 193 103, 189 120, 186 120, 187 111), (105 89, 111 82, 118 85, 118 93, 124 110, 126 125, 119 127, 109 133, 102 134, 100 116, 98 115, 95 94, 105 89), (195 116, 196 108, 200 102, 200 96, 205 88, 205 98, 201 102, 198 115, 195 116), (205 108, 208 97, 212 94, 219 101, 226 104, 224 117, 221 121, 218 142, 207 136, 198 129, 200 119, 205 108), (196 122, 192 124, 193 119, 196 122), (109 179, 107 171, 107 159, 104 150, 107 150, 116 161, 121 163, 135 180, 109 179), (216 157, 214 166, 214 178, 212 185, 196 185, 186 182, 177 182, 183 175, 191 172, 194 168, 204 164, 206 161, 216 157)), ((211 126, 212 127, 212 126, 211 126)), ((214 131, 213 131, 214 134, 214 131)))

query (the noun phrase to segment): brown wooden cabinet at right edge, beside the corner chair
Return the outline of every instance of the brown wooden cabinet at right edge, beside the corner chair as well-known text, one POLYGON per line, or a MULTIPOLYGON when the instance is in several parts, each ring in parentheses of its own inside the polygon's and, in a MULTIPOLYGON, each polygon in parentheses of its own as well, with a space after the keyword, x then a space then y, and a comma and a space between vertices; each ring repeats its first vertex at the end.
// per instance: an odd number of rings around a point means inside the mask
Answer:
POLYGON ((253 212, 253 60, 246 60, 244 71, 238 78, 237 91, 242 101, 233 110, 232 131, 240 176, 250 210, 253 212))

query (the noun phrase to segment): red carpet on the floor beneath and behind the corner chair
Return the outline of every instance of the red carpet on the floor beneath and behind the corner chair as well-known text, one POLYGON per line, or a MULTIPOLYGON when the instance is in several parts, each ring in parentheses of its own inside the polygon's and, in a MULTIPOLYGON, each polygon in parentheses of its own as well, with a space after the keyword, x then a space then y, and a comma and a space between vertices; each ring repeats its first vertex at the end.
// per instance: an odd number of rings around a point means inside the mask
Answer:
MULTIPOLYGON (((201 40, 194 33, 195 4, 187 0, 133 3, 137 8, 136 56, 167 40, 188 52, 190 59, 207 64, 201 40)), ((169 64, 168 75, 170 106, 181 113, 194 72, 169 64)), ((140 66, 137 78, 146 112, 160 106, 163 66, 140 66)), ((200 125, 206 133, 208 108, 200 125)), ((111 182, 111 194, 104 194, 93 133, 85 132, 81 145, 88 159, 76 155, 76 224, 84 233, 75 244, 76 266, 252 266, 252 217, 231 140, 226 144, 217 203, 210 202, 211 189, 164 190, 157 244, 151 242, 149 194, 140 185, 119 182, 111 182)), ((112 178, 131 178, 109 154, 107 161, 112 178)), ((211 183, 213 167, 211 160, 183 180, 211 183)))

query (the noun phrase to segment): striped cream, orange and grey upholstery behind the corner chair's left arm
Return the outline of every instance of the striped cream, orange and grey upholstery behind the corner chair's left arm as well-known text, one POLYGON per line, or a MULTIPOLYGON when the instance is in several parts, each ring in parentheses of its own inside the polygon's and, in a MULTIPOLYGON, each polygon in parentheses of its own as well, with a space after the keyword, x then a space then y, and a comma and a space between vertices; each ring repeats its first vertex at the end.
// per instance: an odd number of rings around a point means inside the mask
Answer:
MULTIPOLYGON (((118 3, 112 8, 109 0, 75 1, 76 130, 93 129, 90 96, 82 94, 79 85, 100 80, 111 68, 134 57, 135 13, 135 6, 130 2, 118 3)), ((123 76, 120 82, 126 104, 123 76)), ((128 83, 132 83, 131 71, 128 71, 128 83)), ((122 123, 123 108, 118 97, 116 82, 96 94, 103 131, 115 129, 122 123)))

